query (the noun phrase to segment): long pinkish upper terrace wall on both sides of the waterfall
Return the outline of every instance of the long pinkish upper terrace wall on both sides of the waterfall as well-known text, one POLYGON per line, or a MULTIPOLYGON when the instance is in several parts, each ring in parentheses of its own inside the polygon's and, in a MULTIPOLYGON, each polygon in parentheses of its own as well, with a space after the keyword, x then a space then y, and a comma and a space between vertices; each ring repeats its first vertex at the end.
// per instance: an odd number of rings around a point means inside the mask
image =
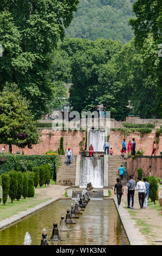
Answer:
MULTIPOLYGON (((86 142, 86 132, 85 131, 53 131, 53 130, 41 130, 41 143, 38 145, 34 145, 33 149, 24 149, 24 154, 34 155, 34 154, 45 154, 49 149, 57 150, 60 144, 61 136, 64 137, 64 150, 67 148, 71 148, 73 151, 73 155, 79 154, 79 143, 83 141, 83 149, 85 149, 86 142)), ((136 150, 143 148, 145 150, 144 155, 150 156, 152 153, 152 144, 153 141, 156 141, 155 130, 151 133, 145 134, 143 137, 140 137, 139 132, 130 133, 128 136, 124 136, 121 131, 111 131, 109 144, 110 147, 113 148, 114 155, 119 155, 120 150, 122 148, 123 138, 126 138, 126 145, 128 145, 129 140, 132 142, 132 138, 135 138, 136 141, 136 150)), ((0 145, 0 151, 3 148, 3 144, 0 145)), ((6 150, 8 152, 8 145, 6 150)), ((13 145, 13 153, 16 151, 22 151, 18 147, 13 145)), ((157 155, 160 155, 160 151, 162 151, 162 136, 160 136, 157 155)))

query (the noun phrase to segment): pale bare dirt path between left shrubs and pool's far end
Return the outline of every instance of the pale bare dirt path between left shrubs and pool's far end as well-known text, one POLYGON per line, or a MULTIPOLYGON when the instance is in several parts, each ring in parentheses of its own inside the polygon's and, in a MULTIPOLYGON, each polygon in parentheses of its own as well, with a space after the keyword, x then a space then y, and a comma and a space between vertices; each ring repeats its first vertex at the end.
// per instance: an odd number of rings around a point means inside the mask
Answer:
POLYGON ((53 198, 53 197, 65 197, 66 186, 49 185, 44 188, 36 188, 35 194, 38 194, 39 199, 53 198))

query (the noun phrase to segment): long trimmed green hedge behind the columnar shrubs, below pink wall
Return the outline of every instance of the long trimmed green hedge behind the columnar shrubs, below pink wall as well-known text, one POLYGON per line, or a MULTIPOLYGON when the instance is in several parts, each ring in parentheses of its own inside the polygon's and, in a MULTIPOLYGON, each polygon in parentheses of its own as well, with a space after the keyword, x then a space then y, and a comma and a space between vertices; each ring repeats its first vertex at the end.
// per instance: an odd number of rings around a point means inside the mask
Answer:
POLYGON ((7 162, 0 165, 0 175, 8 173, 9 170, 20 170, 21 172, 32 172, 33 167, 49 165, 51 176, 55 177, 60 164, 58 155, 8 155, 3 154, 7 162))

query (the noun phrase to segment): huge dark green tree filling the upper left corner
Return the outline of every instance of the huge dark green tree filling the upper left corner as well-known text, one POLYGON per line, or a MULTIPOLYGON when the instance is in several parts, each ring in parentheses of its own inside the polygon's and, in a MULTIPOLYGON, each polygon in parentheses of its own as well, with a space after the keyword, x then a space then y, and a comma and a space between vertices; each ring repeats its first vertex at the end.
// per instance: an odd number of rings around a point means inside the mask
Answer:
POLYGON ((49 76, 53 49, 64 38, 78 0, 2 0, 0 5, 0 90, 16 83, 39 117, 55 94, 49 76))

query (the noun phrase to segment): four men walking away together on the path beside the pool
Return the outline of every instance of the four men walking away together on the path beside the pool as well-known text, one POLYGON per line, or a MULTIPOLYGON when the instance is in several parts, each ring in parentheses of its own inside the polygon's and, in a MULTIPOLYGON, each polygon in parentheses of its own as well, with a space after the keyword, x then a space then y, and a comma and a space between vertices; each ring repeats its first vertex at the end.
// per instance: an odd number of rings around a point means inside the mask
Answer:
MULTIPOLYGON (((120 178, 121 178, 121 175, 120 175, 120 178)), ((129 178, 130 180, 128 181, 126 186, 126 195, 127 195, 127 202, 128 202, 127 208, 134 209, 134 193, 135 193, 135 190, 138 190, 140 210, 146 209, 148 196, 149 196, 149 183, 146 181, 146 178, 144 178, 142 181, 141 178, 139 177, 138 182, 136 184, 136 188, 135 188, 135 180, 133 179, 133 176, 130 175, 129 178)), ((117 178, 116 181, 117 183, 115 184, 115 187, 114 187, 114 194, 116 194, 117 196, 117 204, 118 204, 118 208, 120 208, 121 197, 122 197, 122 194, 124 193, 124 188, 122 183, 120 182, 121 179, 117 178)))

